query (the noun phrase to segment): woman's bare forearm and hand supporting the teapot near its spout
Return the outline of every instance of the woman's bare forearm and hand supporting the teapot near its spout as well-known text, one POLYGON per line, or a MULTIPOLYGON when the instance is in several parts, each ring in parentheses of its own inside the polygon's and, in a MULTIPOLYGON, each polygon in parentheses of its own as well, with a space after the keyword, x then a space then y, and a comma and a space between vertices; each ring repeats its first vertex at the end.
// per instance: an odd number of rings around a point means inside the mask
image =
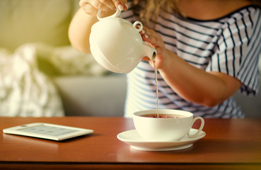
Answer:
MULTIPOLYGON (((232 96, 241 86, 238 79, 221 72, 205 72, 193 67, 166 49, 161 35, 144 28, 143 40, 156 48, 156 67, 161 77, 179 96, 203 106, 216 106, 232 96)), ((153 67, 153 63, 149 61, 153 67)))

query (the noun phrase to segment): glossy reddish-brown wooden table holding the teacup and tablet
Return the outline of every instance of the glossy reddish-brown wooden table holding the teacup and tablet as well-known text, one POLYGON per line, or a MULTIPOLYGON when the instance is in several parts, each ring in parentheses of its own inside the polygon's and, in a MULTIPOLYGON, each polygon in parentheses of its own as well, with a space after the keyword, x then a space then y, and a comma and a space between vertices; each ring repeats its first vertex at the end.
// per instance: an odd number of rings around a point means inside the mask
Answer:
POLYGON ((260 119, 205 119, 204 138, 171 152, 134 150, 117 139, 132 129, 128 118, 0 118, 0 169, 261 169, 260 119), (35 122, 94 133, 57 142, 2 132, 35 122))

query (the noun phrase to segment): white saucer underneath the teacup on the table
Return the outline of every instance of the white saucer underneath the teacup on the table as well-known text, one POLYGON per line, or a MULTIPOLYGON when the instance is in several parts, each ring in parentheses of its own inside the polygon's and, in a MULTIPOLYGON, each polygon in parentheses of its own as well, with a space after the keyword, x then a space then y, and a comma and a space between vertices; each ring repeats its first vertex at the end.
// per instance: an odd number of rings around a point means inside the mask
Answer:
MULTIPOLYGON (((197 132, 197 130, 191 129, 190 132, 193 134, 197 132)), ((117 138, 122 142, 130 145, 132 149, 143 151, 172 151, 192 147, 194 142, 197 142, 205 135, 206 133, 202 131, 199 133, 198 137, 194 138, 187 137, 186 135, 179 141, 153 142, 142 138, 138 134, 137 130, 127 130, 125 132, 119 133, 117 138)))

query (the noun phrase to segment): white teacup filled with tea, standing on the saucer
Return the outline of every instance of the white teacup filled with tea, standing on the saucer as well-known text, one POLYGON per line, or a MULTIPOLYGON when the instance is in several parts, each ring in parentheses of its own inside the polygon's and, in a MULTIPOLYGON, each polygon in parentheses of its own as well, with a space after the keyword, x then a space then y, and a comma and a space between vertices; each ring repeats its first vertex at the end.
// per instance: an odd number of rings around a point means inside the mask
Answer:
POLYGON ((173 115, 178 118, 151 118, 143 115, 153 114, 157 115, 156 109, 138 111, 134 113, 134 126, 146 140, 166 142, 181 140, 182 137, 197 137, 204 127, 204 119, 201 117, 193 118, 193 114, 187 111, 159 109, 158 113, 161 115, 173 115), (195 134, 190 134, 190 129, 196 120, 201 120, 199 130, 195 134))

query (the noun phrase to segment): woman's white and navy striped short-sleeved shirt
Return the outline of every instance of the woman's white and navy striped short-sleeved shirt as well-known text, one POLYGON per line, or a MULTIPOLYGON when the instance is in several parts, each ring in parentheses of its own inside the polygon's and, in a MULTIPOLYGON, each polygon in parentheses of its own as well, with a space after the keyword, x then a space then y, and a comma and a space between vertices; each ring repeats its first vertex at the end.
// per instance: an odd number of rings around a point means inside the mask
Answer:
MULTIPOLYGON (((132 8, 121 14, 131 23, 137 21, 138 16, 139 13, 134 13, 132 8)), ((206 72, 222 72, 236 77, 242 82, 241 93, 255 95, 258 92, 257 64, 261 50, 260 16, 259 8, 245 6, 210 21, 180 18, 174 13, 161 11, 157 20, 151 22, 168 50, 206 72)), ((161 109, 189 111, 204 118, 244 117, 232 97, 214 107, 186 101, 166 84, 159 72, 158 95, 158 107, 161 109)), ((141 61, 127 75, 125 117, 132 117, 136 111, 155 108, 154 69, 148 62, 141 61)))

